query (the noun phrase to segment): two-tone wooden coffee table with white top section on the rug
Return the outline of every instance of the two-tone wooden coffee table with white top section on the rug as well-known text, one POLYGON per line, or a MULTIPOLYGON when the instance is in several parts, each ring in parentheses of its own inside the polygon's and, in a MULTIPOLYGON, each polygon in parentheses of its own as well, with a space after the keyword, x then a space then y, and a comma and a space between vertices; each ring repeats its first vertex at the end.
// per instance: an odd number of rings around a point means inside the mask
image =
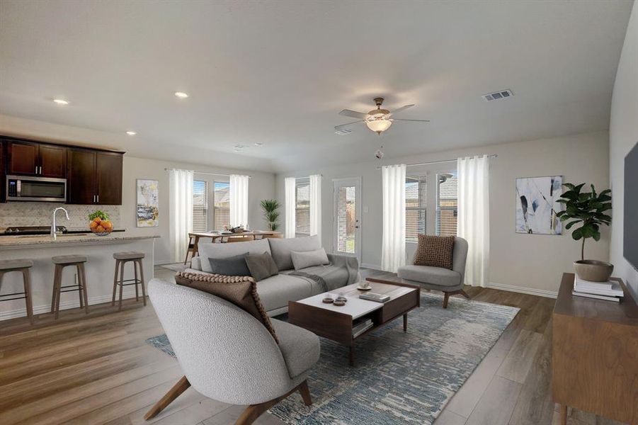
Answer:
POLYGON ((358 283, 337 288, 329 293, 314 295, 304 300, 288 302, 288 322, 314 332, 319 336, 336 341, 350 348, 350 365, 354 365, 355 340, 368 334, 394 319, 403 316, 403 331, 408 330, 408 312, 421 306, 421 289, 407 283, 390 280, 366 279, 370 282, 369 291, 358 290, 358 283), (361 300, 360 294, 380 293, 389 295, 384 303, 361 300), (325 304, 321 300, 326 294, 343 294, 348 302, 342 307, 325 304), (353 321, 360 318, 372 319, 372 328, 353 338, 353 321))

